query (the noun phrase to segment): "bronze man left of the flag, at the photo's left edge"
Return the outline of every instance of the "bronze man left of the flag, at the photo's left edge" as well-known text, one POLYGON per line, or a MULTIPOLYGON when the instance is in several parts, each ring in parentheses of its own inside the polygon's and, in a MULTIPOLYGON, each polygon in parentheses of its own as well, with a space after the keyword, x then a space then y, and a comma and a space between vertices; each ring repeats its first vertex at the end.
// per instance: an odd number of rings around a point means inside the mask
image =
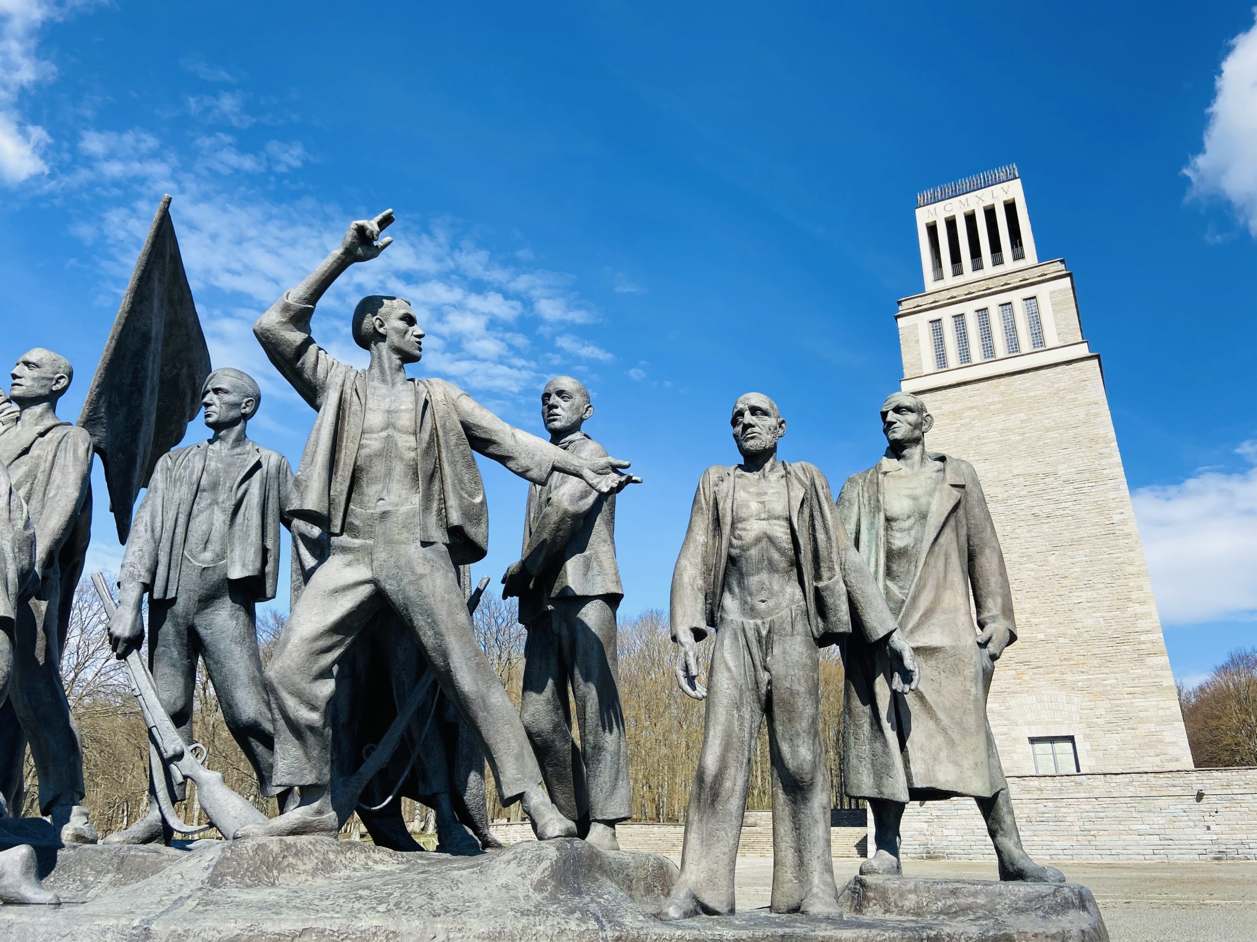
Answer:
POLYGON ((35 525, 40 588, 18 607, 14 620, 9 703, 20 728, 0 731, 0 782, 11 789, 20 781, 29 740, 40 814, 52 818, 64 843, 94 844, 96 828, 83 806, 83 747, 60 669, 64 613, 91 526, 92 440, 57 417, 57 403, 74 377, 69 360, 36 347, 18 358, 10 376, 16 414, 10 411, 0 421, 0 465, 35 525))

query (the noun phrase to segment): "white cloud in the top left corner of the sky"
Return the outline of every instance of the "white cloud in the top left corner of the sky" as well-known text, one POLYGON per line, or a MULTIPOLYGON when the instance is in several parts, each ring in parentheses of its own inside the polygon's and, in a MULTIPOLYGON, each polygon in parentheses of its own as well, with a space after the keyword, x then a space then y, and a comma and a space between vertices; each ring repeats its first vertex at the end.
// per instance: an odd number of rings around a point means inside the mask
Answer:
POLYGON ((41 154, 52 138, 16 107, 24 89, 57 74, 38 55, 39 30, 85 5, 88 0, 0 0, 0 181, 10 186, 48 171, 41 154))

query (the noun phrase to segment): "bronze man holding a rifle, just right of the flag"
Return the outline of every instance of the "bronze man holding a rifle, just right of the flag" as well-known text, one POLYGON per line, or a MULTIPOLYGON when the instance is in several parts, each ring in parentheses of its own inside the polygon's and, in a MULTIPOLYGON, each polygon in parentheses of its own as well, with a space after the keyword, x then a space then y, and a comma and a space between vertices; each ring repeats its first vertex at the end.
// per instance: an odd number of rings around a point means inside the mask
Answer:
MULTIPOLYGON (((293 472, 283 455, 248 437, 261 403, 253 377, 216 369, 201 402, 210 440, 162 456, 131 524, 109 643, 126 657, 143 642, 141 609, 148 593, 148 667, 162 708, 191 744, 196 667, 204 657, 222 718, 265 795, 272 794, 274 732, 255 605, 275 597, 279 525, 293 472)), ((150 795, 148 813, 106 843, 161 839, 168 843, 171 831, 150 795)))

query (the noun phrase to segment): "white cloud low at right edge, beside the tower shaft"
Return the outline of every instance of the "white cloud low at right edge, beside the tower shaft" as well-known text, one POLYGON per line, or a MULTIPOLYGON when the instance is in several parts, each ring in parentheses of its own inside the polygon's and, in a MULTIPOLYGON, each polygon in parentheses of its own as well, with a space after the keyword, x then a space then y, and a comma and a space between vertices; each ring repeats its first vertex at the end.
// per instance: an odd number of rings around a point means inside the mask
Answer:
POLYGON ((1252 467, 1131 495, 1166 624, 1257 618, 1257 440, 1237 452, 1252 467))

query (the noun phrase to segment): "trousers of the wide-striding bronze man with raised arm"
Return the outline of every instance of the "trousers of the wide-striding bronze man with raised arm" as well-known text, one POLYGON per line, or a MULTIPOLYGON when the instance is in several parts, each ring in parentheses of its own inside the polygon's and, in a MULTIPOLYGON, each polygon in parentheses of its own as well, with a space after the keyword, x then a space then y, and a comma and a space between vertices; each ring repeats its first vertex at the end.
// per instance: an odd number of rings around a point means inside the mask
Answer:
POLYGON ((332 540, 288 619, 270 663, 277 786, 331 780, 327 705, 332 668, 371 613, 387 600, 415 632, 441 690, 468 721, 494 770, 503 804, 542 781, 505 688, 475 639, 449 550, 416 544, 381 521, 377 539, 332 540))

